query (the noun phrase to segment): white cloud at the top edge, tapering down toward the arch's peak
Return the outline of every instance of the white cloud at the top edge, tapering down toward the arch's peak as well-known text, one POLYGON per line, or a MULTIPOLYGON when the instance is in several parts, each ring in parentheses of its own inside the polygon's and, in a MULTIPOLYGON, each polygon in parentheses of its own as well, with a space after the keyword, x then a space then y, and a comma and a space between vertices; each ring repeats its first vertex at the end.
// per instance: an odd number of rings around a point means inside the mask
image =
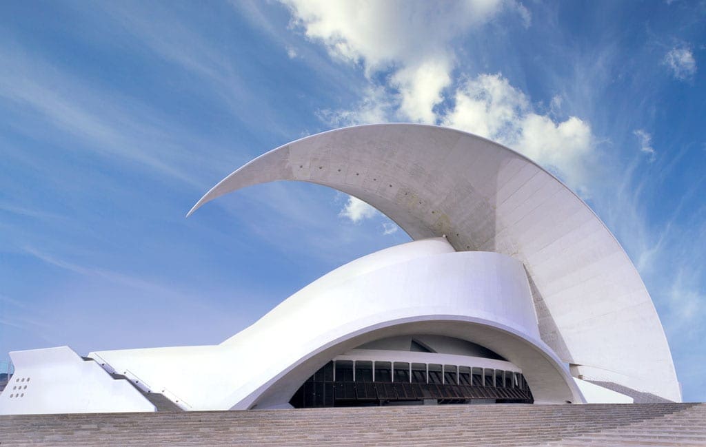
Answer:
POLYGON ((516 11, 525 25, 531 19, 527 8, 511 0, 283 3, 292 12, 294 27, 323 43, 335 59, 359 64, 369 80, 376 73, 385 74, 388 87, 397 90, 400 118, 422 123, 435 121, 433 107, 450 85, 453 39, 504 9, 516 11))

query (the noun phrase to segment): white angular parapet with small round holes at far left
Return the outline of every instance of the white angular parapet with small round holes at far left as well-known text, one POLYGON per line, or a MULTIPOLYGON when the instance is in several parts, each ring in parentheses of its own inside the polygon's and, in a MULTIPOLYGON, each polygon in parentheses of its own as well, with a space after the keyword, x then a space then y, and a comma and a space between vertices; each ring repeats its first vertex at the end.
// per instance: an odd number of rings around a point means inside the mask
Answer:
POLYGON ((127 381, 113 379, 68 346, 10 357, 15 374, 0 394, 0 415, 156 411, 127 381))

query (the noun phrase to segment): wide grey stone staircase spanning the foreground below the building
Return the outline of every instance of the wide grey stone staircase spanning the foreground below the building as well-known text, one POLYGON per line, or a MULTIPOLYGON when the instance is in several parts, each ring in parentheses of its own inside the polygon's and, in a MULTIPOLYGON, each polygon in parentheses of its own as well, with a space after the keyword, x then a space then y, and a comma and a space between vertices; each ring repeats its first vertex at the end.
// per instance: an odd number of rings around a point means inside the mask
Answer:
POLYGON ((0 416, 0 446, 706 446, 706 404, 0 416))

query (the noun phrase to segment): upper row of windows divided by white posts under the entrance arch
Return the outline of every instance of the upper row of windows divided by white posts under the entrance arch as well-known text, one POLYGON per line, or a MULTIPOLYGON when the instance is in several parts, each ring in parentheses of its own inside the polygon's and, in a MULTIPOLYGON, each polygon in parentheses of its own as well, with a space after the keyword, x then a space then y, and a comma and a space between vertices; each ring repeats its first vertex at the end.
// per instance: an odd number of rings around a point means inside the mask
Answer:
POLYGON ((527 389, 519 372, 433 363, 335 360, 319 369, 308 381, 381 382, 465 385, 527 389))

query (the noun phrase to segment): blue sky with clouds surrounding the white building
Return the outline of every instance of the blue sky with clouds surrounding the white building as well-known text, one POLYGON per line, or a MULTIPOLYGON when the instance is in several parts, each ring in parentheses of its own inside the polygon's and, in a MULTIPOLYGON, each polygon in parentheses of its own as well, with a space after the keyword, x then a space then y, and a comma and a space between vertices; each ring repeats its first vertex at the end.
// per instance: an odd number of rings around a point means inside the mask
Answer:
POLYGON ((611 228, 706 400, 706 3, 0 4, 0 353, 220 341, 409 240, 327 188, 184 216, 249 159, 357 123, 477 133, 611 228))

